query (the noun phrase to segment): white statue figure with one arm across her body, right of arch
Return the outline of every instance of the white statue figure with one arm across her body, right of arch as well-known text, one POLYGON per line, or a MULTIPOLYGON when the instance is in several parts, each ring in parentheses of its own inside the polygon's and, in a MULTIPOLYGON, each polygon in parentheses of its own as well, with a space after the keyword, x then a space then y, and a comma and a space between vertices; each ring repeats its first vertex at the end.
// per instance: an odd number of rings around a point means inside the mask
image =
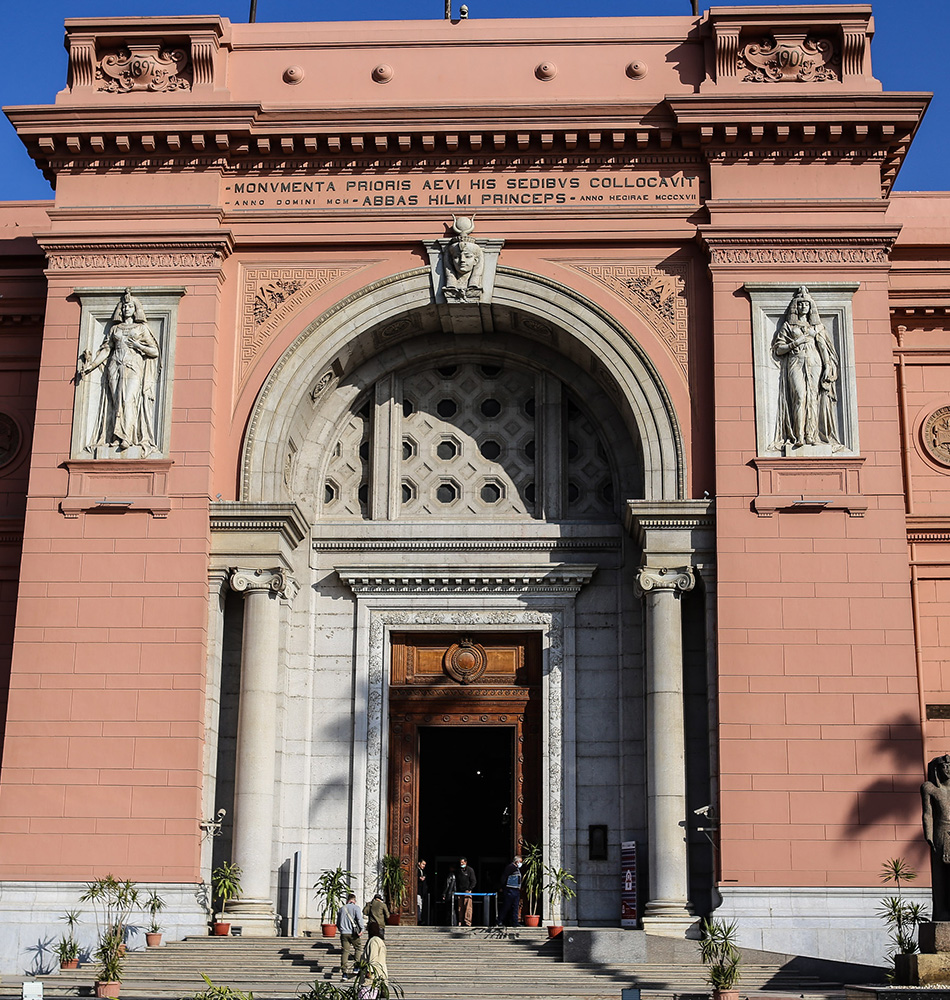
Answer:
POLYGON ((779 366, 778 416, 771 447, 831 445, 838 438, 838 354, 818 314, 818 305, 802 285, 789 303, 772 338, 779 366))

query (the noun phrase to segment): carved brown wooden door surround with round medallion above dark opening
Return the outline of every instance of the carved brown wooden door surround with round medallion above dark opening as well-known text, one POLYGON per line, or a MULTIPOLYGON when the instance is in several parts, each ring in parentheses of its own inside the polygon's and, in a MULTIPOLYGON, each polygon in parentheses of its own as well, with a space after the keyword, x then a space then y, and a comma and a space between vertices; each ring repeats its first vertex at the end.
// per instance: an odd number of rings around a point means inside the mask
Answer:
POLYGON ((541 655, 537 633, 398 633, 389 689, 389 853, 410 883, 402 908, 415 923, 419 847, 419 730, 510 727, 514 733, 512 829, 517 843, 540 832, 541 655))

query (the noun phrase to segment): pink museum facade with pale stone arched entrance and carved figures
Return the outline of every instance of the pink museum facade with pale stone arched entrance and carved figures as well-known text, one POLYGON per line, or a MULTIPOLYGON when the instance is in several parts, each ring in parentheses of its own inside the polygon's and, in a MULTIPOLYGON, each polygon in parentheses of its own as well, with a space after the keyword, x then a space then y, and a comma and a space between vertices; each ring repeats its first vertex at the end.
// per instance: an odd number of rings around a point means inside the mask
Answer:
POLYGON ((55 201, 0 205, 0 967, 108 872, 177 937, 235 861, 268 935, 523 841, 613 948, 632 841, 640 931, 883 960, 948 749, 950 195, 891 191, 929 95, 872 34, 67 22, 7 109, 55 201))

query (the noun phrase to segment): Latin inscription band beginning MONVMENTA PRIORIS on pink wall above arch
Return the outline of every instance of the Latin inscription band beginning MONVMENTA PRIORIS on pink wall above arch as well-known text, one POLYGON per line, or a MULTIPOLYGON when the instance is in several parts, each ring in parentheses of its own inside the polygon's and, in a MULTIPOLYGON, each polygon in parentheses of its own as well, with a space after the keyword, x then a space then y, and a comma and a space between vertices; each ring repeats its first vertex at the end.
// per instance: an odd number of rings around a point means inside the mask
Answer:
POLYGON ((227 209, 696 208, 699 177, 682 170, 302 175, 227 178, 227 209))

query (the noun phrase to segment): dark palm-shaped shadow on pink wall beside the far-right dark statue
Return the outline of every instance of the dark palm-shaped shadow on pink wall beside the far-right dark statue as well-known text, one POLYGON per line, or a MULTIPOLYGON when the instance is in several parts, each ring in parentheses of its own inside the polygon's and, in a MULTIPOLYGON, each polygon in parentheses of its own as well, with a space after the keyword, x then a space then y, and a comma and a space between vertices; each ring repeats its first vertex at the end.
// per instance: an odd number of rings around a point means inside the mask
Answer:
MULTIPOLYGON (((874 759, 889 759, 891 765, 857 792, 848 823, 868 832, 880 823, 917 823, 919 826, 919 788, 926 780, 920 720, 905 713, 893 722, 874 727, 871 733, 874 759)), ((858 766, 861 766, 860 760, 858 766)), ((919 866, 924 860, 924 846, 921 833, 903 850, 895 843, 893 851, 902 854, 904 850, 914 850, 913 858, 908 860, 919 866)))

